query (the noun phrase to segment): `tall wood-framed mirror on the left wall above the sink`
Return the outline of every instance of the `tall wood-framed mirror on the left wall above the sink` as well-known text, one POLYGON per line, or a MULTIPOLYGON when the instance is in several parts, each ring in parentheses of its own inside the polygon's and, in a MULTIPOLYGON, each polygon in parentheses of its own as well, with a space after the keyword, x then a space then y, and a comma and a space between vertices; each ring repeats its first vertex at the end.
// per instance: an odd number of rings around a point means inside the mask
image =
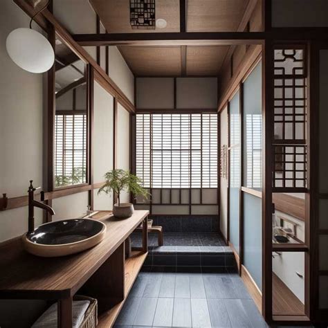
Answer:
POLYGON ((87 65, 56 35, 54 188, 88 183, 87 65))

